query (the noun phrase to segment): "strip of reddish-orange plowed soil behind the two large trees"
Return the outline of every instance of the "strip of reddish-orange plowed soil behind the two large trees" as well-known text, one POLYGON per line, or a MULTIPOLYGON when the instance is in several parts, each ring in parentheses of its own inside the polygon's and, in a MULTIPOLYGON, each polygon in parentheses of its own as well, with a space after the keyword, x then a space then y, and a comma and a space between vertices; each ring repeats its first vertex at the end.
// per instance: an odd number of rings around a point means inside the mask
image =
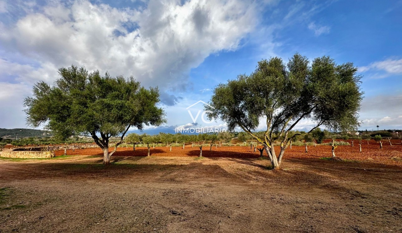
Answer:
MULTIPOLYGON (((329 142, 326 140, 324 142, 329 142)), ((351 140, 348 140, 351 143, 351 140)), ((398 140, 391 141, 392 146, 388 142, 383 142, 383 149, 379 148, 379 143, 373 140, 367 144, 367 141, 362 143, 362 152, 359 152, 359 142, 354 141, 354 146, 338 146, 335 149, 335 154, 337 157, 346 160, 356 160, 360 162, 375 162, 381 164, 402 164, 402 144, 398 140)), ((113 148, 109 148, 112 151, 113 148)), ((280 148, 275 147, 277 153, 279 153, 280 148)), ((60 156, 64 151, 56 151, 56 156, 60 156)), ((114 156, 147 156, 148 148, 137 147, 135 151, 133 148, 117 148, 114 156)), ((150 149, 151 156, 168 156, 168 157, 195 157, 199 156, 200 151, 197 146, 191 148, 191 145, 186 145, 185 149, 181 146, 172 147, 172 151, 169 151, 169 147, 155 147, 150 149)), ((103 152, 100 148, 93 149, 82 149, 82 150, 67 150, 68 155, 99 155, 102 156, 103 152)), ((203 147, 202 155, 207 158, 258 158, 260 152, 257 150, 253 152, 250 147, 247 146, 222 146, 212 147, 209 151, 208 147, 203 147)), ((266 152, 264 152, 266 155, 266 152)), ((287 148, 285 151, 284 160, 289 158, 322 158, 331 157, 331 146, 321 146, 317 145, 308 146, 308 153, 305 153, 304 146, 292 146, 292 149, 287 148)))

